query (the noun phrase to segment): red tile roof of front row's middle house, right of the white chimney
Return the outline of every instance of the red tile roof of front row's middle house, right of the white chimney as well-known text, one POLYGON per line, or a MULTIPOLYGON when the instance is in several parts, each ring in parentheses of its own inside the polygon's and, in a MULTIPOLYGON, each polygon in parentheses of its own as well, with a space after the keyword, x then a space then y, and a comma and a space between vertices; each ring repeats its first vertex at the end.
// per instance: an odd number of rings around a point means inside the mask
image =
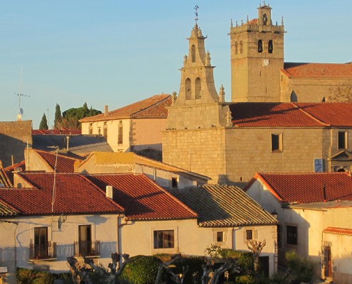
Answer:
POLYGON ((196 213, 142 174, 97 174, 87 178, 105 190, 113 187, 113 200, 131 220, 195 219, 196 213))

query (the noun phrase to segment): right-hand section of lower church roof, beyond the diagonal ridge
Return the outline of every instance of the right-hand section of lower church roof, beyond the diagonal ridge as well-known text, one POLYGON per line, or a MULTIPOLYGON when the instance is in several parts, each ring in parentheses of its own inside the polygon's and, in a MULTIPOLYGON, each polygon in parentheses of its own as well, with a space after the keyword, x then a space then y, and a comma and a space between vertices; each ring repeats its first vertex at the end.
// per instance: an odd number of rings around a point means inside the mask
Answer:
POLYGON ((352 103, 326 102, 326 103, 295 103, 303 111, 314 116, 324 124, 331 126, 352 126, 352 103))

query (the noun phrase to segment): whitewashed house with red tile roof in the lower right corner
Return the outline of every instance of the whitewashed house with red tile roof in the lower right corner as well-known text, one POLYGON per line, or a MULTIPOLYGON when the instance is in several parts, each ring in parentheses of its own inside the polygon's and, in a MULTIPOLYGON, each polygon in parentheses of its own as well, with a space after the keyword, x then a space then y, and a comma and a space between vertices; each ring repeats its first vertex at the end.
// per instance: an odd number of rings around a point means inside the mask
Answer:
POLYGON ((294 249, 317 276, 351 283, 351 185, 349 173, 258 173, 245 192, 277 212, 279 263, 294 249))

